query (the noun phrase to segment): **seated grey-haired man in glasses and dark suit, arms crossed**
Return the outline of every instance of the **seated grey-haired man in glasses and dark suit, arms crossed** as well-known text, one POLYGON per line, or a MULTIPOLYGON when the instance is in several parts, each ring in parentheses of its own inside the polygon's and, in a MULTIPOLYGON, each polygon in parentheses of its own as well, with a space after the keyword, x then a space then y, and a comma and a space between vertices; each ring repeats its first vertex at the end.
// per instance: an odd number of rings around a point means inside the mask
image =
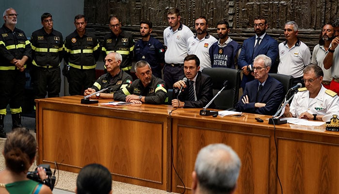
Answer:
POLYGON ((285 94, 282 83, 268 75, 271 64, 271 58, 266 55, 254 58, 255 80, 246 83, 244 94, 235 105, 237 111, 266 115, 277 112, 285 94))

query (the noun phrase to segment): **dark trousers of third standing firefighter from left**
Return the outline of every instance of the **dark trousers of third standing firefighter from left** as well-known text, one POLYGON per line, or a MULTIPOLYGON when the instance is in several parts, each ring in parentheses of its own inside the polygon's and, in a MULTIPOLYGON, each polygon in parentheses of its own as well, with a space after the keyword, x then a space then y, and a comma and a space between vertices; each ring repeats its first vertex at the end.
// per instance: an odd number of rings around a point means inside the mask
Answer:
POLYGON ((95 82, 95 69, 77 69, 69 68, 69 94, 83 95, 84 90, 92 87, 95 82))

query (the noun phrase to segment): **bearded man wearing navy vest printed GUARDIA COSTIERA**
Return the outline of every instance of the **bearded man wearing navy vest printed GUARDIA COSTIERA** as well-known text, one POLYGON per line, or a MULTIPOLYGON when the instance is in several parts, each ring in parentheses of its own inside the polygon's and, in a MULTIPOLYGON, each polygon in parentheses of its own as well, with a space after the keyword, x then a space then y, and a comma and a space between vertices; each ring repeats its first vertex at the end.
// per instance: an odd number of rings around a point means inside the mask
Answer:
POLYGON ((227 67, 235 69, 240 45, 229 36, 230 25, 227 21, 221 20, 216 24, 216 33, 219 41, 209 49, 212 67, 227 67))

